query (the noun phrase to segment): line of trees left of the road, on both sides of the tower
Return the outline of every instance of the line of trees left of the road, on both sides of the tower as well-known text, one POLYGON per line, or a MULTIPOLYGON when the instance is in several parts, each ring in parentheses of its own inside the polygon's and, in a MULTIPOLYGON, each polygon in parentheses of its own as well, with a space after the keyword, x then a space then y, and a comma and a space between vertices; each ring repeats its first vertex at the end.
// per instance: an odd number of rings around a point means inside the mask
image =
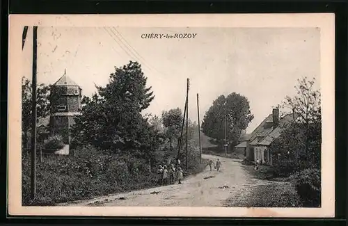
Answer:
MULTIPOLYGON (((92 145, 100 151, 132 154, 141 159, 154 159, 158 150, 174 153, 180 143, 183 113, 180 108, 163 111, 161 115, 144 114, 155 99, 147 86, 141 65, 130 61, 115 67, 106 86, 95 86, 92 97, 82 97, 81 115, 74 119, 70 131, 70 148, 92 145)), ((50 113, 50 86, 38 86, 38 118, 50 113)), ((22 143, 28 143, 31 128, 31 83, 22 79, 22 143)), ((196 122, 189 120, 189 138, 193 138, 196 122)), ((183 131, 183 135, 186 130, 183 131)), ((183 140, 185 142, 185 140, 183 140)), ((177 152, 175 152, 177 153, 177 152)))

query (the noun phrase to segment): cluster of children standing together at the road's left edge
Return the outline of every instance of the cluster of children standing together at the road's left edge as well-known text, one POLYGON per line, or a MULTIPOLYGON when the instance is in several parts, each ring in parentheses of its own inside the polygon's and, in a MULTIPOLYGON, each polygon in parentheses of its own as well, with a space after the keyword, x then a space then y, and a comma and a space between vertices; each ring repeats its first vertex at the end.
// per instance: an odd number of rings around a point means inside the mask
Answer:
POLYGON ((176 168, 174 164, 171 164, 169 167, 160 165, 157 170, 158 183, 161 185, 174 184, 175 178, 177 178, 178 184, 181 184, 184 175, 181 167, 178 165, 176 168))

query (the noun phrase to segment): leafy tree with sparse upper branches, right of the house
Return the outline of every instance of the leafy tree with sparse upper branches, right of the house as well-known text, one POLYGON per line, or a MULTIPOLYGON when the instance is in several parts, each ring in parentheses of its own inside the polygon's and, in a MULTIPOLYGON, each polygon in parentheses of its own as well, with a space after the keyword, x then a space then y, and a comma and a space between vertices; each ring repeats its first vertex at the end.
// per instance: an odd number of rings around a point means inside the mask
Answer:
POLYGON ((284 113, 293 111, 296 119, 284 125, 282 133, 270 146, 276 166, 292 168, 292 171, 319 167, 322 144, 320 91, 313 88, 315 79, 308 81, 305 77, 298 82, 297 94, 285 97, 279 104, 284 113))

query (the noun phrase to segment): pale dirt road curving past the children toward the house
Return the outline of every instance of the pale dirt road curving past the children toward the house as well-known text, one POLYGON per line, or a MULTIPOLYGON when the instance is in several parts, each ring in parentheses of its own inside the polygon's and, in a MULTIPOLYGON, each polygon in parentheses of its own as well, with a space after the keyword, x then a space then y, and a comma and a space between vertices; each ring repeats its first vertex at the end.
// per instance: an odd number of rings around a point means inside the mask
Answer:
POLYGON ((184 179, 182 184, 149 188, 93 200, 61 204, 64 206, 151 206, 222 207, 231 197, 245 199, 253 186, 267 183, 253 179, 237 159, 203 154, 204 159, 220 159, 221 171, 209 170, 184 179), (207 178, 210 177, 210 178, 207 178), (206 178, 206 179, 205 179, 206 178))

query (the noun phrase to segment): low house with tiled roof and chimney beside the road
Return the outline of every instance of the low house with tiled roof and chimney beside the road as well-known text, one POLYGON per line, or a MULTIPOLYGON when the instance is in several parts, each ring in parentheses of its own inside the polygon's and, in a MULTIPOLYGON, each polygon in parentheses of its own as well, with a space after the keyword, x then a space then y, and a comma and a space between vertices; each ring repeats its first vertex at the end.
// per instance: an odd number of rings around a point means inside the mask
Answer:
POLYGON ((294 120, 293 113, 279 118, 279 109, 274 108, 272 113, 267 116, 249 136, 248 140, 239 143, 238 146, 246 147, 245 156, 249 161, 259 159, 261 163, 272 165, 272 155, 269 152, 269 145, 280 136, 286 123, 294 120))

